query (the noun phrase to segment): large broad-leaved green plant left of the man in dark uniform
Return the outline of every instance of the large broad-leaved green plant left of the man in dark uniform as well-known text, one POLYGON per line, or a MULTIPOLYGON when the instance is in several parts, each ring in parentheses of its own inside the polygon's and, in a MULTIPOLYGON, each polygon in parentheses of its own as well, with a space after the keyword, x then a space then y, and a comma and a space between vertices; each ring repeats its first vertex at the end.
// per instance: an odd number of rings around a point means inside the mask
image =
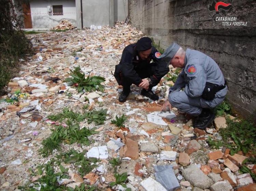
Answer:
POLYGON ((104 91, 103 87, 100 83, 105 81, 104 77, 101 76, 91 76, 90 74, 85 78, 85 74, 81 73, 81 68, 76 67, 73 71, 71 70, 72 74, 70 74, 73 78, 67 78, 65 82, 69 82, 70 85, 76 85, 77 91, 81 92, 85 90, 86 92, 90 92, 91 90, 96 91, 104 91))

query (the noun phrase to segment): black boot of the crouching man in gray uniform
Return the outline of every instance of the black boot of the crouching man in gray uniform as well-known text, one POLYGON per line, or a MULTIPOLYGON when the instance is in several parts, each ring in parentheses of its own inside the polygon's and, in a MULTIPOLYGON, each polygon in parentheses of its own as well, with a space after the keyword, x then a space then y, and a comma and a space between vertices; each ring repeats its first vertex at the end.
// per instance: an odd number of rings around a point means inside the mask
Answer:
POLYGON ((202 113, 198 116, 198 119, 194 124, 194 127, 205 130, 214 118, 215 114, 210 109, 203 108, 202 113))

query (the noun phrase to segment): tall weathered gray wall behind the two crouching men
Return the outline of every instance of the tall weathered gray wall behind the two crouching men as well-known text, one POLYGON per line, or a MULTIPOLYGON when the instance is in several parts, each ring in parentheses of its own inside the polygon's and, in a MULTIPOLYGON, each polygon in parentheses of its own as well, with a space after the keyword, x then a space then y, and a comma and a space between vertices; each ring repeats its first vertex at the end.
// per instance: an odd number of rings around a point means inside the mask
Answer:
POLYGON ((213 0, 130 0, 134 27, 167 48, 176 42, 212 57, 228 82, 227 98, 244 117, 256 119, 256 3, 225 0, 233 5, 222 16, 247 21, 247 26, 214 24, 208 6, 213 0))

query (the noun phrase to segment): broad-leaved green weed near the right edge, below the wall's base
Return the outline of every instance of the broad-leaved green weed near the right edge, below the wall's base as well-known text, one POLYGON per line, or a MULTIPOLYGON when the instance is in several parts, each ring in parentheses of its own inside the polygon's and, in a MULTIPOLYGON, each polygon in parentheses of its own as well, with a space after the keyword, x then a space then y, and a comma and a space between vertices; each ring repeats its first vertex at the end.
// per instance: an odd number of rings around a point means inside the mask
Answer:
POLYGON ((233 156, 235 153, 237 153, 238 151, 243 151, 243 153, 247 153, 249 152, 250 148, 251 148, 251 144, 253 139, 249 138, 247 139, 245 142, 241 143, 241 141, 237 138, 237 136, 232 132, 231 133, 231 137, 234 140, 234 143, 236 143, 237 147, 236 148, 232 148, 230 150, 230 155, 233 156))

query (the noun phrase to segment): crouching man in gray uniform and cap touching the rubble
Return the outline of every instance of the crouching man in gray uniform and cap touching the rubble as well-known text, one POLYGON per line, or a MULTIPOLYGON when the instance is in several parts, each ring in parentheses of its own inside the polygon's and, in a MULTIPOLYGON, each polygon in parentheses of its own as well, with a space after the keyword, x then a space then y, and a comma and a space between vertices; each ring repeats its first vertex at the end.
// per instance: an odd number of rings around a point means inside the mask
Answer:
POLYGON ((173 43, 162 55, 167 67, 181 68, 173 87, 169 89, 168 100, 162 110, 169 106, 179 108, 192 116, 198 116, 193 127, 205 130, 214 120, 212 108, 221 104, 227 94, 224 76, 217 63, 209 56, 173 43), (180 91, 184 88, 184 91, 180 91))

